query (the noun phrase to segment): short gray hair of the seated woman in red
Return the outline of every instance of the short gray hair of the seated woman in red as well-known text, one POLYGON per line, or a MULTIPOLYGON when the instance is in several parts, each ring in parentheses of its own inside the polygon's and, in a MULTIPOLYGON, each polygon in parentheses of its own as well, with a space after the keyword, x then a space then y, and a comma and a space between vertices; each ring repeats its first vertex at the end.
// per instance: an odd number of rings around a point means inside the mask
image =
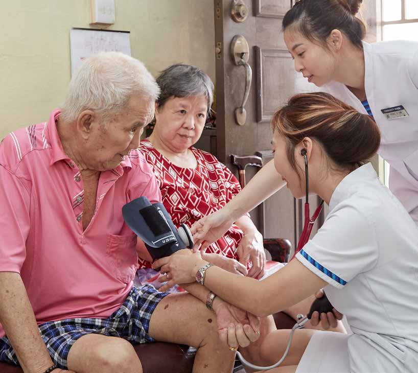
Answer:
POLYGON ((190 97, 204 95, 207 99, 207 112, 211 113, 214 99, 214 84, 206 73, 192 65, 175 64, 166 68, 157 78, 161 89, 157 103, 164 106, 172 97, 190 97))

